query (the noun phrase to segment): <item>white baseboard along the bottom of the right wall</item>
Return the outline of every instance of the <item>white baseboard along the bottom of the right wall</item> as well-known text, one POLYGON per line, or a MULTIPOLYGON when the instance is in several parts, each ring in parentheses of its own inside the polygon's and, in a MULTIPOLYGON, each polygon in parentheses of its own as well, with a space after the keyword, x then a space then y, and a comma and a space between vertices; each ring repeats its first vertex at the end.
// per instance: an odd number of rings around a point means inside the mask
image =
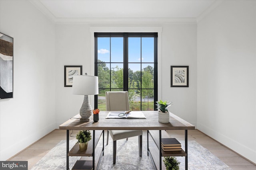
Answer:
POLYGON ((228 143, 232 143, 232 145, 233 145, 234 147, 242 148, 242 149, 240 149, 240 150, 242 150, 244 153, 246 153, 246 154, 249 153, 249 154, 248 154, 248 157, 250 157, 250 155, 256 155, 256 151, 254 151, 254 150, 252 150, 252 149, 250 149, 250 148, 248 148, 248 147, 246 147, 246 146, 244 146, 244 145, 238 143, 237 141, 234 141, 234 140, 230 139, 229 137, 226 137, 225 135, 220 134, 220 133, 214 131, 213 129, 210 129, 210 128, 208 128, 208 127, 206 127, 206 126, 204 126, 204 125, 202 125, 202 124, 200 124, 200 123, 197 123, 197 130, 200 131, 200 132, 202 132, 202 133, 205 134, 206 136, 210 137, 211 139, 213 139, 214 141, 216 141, 216 142, 219 143, 220 145, 226 147, 226 148, 229 149, 229 150, 232 150, 233 152, 235 152, 236 154, 238 154, 238 155, 241 156, 242 158, 248 160, 248 161, 251 162, 252 164, 256 165, 256 162, 254 162, 254 161, 251 160, 251 159, 253 159, 253 158, 250 159, 250 158, 245 157, 245 156, 242 155, 241 153, 238 153, 238 152, 235 151, 234 149, 228 147, 227 144, 228 144, 228 143), (201 130, 201 129, 204 129, 204 131, 201 130), (213 134, 213 135, 211 135, 211 134, 213 134), (215 136, 215 137, 214 137, 214 136, 215 136), (220 140, 218 140, 218 139, 216 139, 216 138, 222 138, 222 141, 226 141, 227 144, 222 143, 220 140))

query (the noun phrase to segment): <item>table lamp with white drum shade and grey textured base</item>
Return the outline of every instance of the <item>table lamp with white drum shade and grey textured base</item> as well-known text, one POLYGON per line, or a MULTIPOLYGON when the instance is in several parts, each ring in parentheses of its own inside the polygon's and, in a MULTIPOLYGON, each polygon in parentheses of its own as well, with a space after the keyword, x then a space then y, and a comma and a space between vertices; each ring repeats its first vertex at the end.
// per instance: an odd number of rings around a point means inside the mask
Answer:
POLYGON ((80 109, 80 121, 89 121, 92 115, 92 107, 88 100, 88 95, 99 94, 98 77, 97 76, 74 76, 72 93, 77 95, 84 95, 84 102, 80 109))

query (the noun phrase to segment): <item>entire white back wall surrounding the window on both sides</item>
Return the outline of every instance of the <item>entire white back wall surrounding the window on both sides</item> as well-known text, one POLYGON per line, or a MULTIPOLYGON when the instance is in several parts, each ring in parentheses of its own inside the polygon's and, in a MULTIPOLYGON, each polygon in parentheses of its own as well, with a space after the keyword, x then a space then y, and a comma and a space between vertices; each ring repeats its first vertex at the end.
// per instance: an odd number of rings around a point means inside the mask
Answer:
MULTIPOLYGON (((129 27, 162 27, 162 58, 158 70, 161 77, 158 86, 162 88, 163 100, 174 102, 170 111, 190 123, 196 123, 196 24, 135 25, 129 27), (186 49, 186 50, 184 50, 186 49), (162 66, 161 66, 162 65, 162 66), (190 66, 189 88, 170 88, 170 66, 190 66), (186 107, 184 107, 186 106, 186 107)), ((79 113, 83 97, 71 93, 70 87, 64 87, 64 65, 82 65, 83 74, 93 75, 94 55, 91 48, 94 42, 90 37, 90 28, 94 25, 57 24, 56 25, 56 123, 57 127, 70 117, 79 113)), ((116 27, 116 25, 96 25, 98 30, 116 27)), ((127 25, 118 25, 127 29, 127 25)), ((133 29, 133 30, 135 30, 133 29)), ((127 31, 127 30, 126 30, 127 31)), ((92 105, 93 107, 93 105, 92 105)))

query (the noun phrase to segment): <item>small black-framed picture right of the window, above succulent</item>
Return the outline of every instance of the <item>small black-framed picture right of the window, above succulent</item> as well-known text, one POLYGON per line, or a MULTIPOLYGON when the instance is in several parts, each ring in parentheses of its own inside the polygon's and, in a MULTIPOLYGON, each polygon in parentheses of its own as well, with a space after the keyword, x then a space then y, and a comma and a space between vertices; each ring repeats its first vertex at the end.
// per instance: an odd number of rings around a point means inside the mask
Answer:
POLYGON ((188 66, 171 66, 171 87, 188 87, 188 66))

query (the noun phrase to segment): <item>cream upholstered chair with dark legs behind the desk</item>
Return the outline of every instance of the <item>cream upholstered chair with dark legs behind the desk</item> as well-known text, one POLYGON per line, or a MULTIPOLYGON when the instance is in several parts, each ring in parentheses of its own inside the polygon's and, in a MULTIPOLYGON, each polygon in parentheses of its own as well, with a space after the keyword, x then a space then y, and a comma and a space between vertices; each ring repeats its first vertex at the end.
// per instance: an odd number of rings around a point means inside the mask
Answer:
MULTIPOLYGON (((106 92, 107 111, 128 111, 130 110, 128 92, 106 92)), ((139 156, 142 156, 142 131, 141 130, 110 130, 108 134, 113 139, 113 164, 116 164, 116 141, 119 139, 128 140, 128 137, 138 136, 139 156)), ((108 145, 107 134, 107 145, 108 145)))

